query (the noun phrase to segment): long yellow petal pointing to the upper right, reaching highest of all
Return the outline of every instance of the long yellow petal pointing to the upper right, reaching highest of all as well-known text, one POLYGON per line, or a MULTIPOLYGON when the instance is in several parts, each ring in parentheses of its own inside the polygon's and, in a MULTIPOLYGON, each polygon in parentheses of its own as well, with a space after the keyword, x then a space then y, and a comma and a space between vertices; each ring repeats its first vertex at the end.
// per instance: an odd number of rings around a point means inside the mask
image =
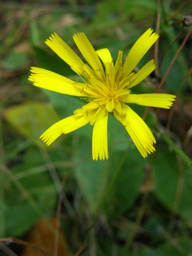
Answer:
POLYGON ((132 72, 132 70, 139 63, 140 59, 158 39, 159 35, 157 35, 156 33, 152 34, 152 32, 152 29, 148 29, 147 31, 145 31, 131 48, 123 65, 124 76, 127 76, 132 72))

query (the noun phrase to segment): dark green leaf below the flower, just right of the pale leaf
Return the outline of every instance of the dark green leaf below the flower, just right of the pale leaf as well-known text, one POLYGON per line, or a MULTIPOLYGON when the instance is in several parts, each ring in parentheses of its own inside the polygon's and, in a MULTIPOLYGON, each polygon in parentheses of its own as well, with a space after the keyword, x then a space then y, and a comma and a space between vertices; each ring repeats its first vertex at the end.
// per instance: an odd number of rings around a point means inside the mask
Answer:
MULTIPOLYGON (((122 158, 123 154, 120 152, 111 154, 108 184, 122 158)), ((132 207, 144 179, 146 162, 135 146, 128 151, 105 203, 105 211, 109 217, 117 217, 132 207)))

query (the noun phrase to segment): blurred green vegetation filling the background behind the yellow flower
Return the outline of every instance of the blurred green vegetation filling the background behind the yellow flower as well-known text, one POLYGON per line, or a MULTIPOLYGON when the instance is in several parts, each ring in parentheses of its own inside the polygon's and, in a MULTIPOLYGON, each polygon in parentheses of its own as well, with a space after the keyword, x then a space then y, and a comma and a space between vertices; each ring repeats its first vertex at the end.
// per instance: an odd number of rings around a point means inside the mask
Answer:
MULTIPOLYGON (((56 217, 61 201, 69 255, 80 247, 80 255, 191 255, 191 37, 161 88, 177 95, 173 109, 150 109, 145 119, 157 139, 156 152, 146 159, 113 115, 108 161, 92 160, 90 125, 46 147, 39 135, 84 102, 27 80, 31 66, 76 79, 44 43, 51 33, 76 51, 72 35, 83 31, 95 49, 109 48, 116 59, 118 50, 126 55, 146 29, 156 30, 157 13, 159 75, 152 74, 135 93, 155 92, 190 29, 181 23, 192 14, 190 1, 164 0, 160 9, 155 0, 0 2, 1 238, 26 240, 38 219, 56 217)), ((139 67, 153 57, 151 49, 139 67)), ((133 109, 142 116, 146 108, 133 109)))

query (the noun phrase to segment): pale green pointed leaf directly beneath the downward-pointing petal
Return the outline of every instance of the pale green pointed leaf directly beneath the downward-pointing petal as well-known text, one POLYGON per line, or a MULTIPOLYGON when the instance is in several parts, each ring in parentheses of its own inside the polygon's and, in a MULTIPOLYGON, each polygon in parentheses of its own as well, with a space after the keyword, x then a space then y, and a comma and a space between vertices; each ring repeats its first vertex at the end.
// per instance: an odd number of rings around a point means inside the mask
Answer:
POLYGON ((76 148, 74 160, 75 178, 91 210, 95 212, 108 182, 109 161, 93 161, 91 140, 82 136, 76 148))

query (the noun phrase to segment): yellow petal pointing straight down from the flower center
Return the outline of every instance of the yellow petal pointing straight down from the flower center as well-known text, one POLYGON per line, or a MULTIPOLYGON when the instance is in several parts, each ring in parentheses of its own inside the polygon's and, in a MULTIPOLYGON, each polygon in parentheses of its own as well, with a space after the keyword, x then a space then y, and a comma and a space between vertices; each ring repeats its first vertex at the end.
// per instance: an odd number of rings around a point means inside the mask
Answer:
POLYGON ((102 113, 93 126, 92 137, 93 160, 108 159, 108 114, 102 113))

